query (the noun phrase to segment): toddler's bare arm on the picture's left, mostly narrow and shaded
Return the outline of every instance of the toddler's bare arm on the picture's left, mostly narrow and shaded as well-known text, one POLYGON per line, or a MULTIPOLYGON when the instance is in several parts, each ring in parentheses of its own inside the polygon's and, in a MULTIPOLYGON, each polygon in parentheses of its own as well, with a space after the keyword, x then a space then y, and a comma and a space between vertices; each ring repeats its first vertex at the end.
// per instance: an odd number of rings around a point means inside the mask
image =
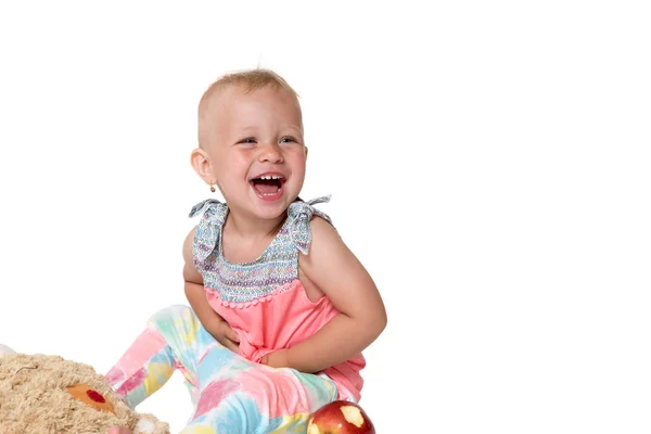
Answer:
POLYGON ((194 266, 194 260, 192 258, 192 242, 194 240, 195 231, 196 228, 192 229, 183 242, 183 280, 186 297, 204 329, 206 329, 213 337, 219 341, 221 345, 238 353, 238 343, 240 342, 238 334, 208 304, 203 278, 194 266))

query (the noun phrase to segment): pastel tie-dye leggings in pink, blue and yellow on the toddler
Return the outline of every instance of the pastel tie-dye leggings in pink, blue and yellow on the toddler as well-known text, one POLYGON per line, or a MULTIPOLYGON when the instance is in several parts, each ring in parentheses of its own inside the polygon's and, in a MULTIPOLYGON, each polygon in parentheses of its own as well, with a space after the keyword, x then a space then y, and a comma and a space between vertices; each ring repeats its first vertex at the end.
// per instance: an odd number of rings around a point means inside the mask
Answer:
POLYGON ((155 314, 106 379, 136 408, 175 369, 195 405, 182 434, 305 433, 310 413, 337 399, 326 376, 269 368, 224 347, 187 306, 155 314))

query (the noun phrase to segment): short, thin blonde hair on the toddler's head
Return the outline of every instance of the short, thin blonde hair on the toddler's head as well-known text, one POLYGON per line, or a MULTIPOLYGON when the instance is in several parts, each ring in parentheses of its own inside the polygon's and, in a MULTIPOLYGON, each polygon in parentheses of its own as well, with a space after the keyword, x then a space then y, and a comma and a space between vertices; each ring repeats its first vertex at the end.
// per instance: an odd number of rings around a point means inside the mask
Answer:
POLYGON ((199 102, 199 145, 205 148, 210 140, 209 106, 214 97, 222 89, 238 87, 244 94, 258 89, 271 87, 276 90, 289 92, 298 103, 298 93, 286 82, 284 78, 270 69, 246 69, 229 73, 213 82, 201 97, 199 102))

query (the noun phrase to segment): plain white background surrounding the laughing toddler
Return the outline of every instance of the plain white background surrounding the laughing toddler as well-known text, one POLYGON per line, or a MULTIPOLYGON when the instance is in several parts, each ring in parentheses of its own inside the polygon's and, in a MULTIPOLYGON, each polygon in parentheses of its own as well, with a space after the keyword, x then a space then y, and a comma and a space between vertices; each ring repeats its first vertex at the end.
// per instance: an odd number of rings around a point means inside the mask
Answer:
MULTIPOLYGON (((381 434, 648 433, 643 3, 3 2, 0 342, 105 372, 184 303, 196 104, 260 65, 387 306, 381 434)), ((140 410, 180 430, 180 375, 140 410)))

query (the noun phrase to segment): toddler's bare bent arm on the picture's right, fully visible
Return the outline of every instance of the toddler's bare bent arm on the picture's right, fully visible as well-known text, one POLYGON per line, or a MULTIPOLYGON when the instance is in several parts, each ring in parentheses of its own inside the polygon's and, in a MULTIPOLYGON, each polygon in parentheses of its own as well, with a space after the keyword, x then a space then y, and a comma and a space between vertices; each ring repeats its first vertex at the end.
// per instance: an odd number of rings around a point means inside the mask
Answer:
POLYGON ((311 220, 312 242, 301 256, 303 272, 328 296, 339 315, 269 365, 318 372, 358 355, 386 327, 386 310, 373 280, 332 226, 311 220), (282 360, 285 358, 285 360, 282 360))

